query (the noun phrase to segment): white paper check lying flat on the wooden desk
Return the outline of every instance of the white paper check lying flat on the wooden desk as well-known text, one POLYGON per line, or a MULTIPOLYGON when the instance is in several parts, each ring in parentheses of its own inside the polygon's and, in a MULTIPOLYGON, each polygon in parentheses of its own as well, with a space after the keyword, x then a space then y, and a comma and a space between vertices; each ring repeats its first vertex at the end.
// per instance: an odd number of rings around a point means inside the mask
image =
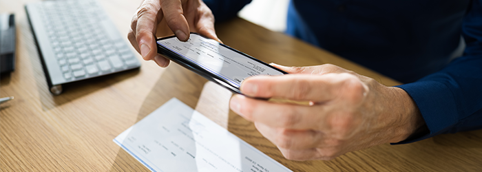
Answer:
POLYGON ((114 142, 151 171, 291 171, 176 98, 114 142))

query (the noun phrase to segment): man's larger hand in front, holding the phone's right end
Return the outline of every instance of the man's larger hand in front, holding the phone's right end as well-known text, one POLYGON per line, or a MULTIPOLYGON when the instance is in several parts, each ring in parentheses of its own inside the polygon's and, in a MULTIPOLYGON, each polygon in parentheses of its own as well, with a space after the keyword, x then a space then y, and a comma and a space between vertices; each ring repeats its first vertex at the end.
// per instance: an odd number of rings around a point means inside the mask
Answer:
POLYGON ((258 98, 307 100, 293 105, 241 95, 230 107, 290 160, 330 160, 349 151, 405 140, 425 122, 403 89, 335 65, 284 67, 291 74, 253 76, 241 92, 258 98))

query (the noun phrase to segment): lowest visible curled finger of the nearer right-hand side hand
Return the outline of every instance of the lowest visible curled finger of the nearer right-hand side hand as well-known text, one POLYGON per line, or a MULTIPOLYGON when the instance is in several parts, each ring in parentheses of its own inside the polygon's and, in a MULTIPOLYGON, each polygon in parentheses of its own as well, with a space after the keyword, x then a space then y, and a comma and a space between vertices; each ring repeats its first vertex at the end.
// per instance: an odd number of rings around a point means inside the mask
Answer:
POLYGON ((277 147, 291 150, 315 148, 323 134, 314 130, 293 130, 269 127, 261 122, 255 122, 260 133, 277 147))

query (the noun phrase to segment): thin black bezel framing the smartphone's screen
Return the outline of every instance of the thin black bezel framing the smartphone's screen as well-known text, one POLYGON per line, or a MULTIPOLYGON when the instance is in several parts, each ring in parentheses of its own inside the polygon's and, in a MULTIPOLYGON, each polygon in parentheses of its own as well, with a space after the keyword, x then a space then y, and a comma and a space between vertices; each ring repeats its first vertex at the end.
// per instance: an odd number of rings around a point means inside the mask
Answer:
MULTIPOLYGON (((195 33, 195 32, 191 32, 191 34, 196 34, 198 36, 202 36, 202 35, 200 35, 198 33, 195 33)), ((175 37, 176 37, 175 35, 172 35, 172 36, 166 36, 166 37, 163 37, 163 38, 156 39, 156 45, 158 47, 157 48, 158 54, 164 55, 166 58, 169 58, 169 60, 174 61, 175 63, 178 63, 182 67, 185 67, 185 68, 191 70, 192 72, 194 72, 196 74, 199 74, 200 76, 202 76, 204 78, 207 78, 207 80, 211 80, 214 83, 217 83, 218 85, 221 85, 222 87, 225 87, 225 88, 231 90, 231 92, 233 92, 235 94, 242 94, 241 91, 240 91, 240 88, 235 86, 235 85, 232 85, 228 80, 218 76, 217 74, 213 74, 212 72, 209 72, 207 69, 204 69, 200 65, 187 60, 186 58, 182 57, 181 55, 177 54, 176 52, 173 52, 173 51, 169 50, 168 48, 164 47, 163 45, 159 45, 159 43, 157 43, 160 40, 172 39, 172 38, 175 38, 175 37)), ((205 38, 205 39, 209 39, 205 36, 202 36, 202 37, 205 38)), ((218 42, 216 41, 216 43, 218 43, 218 42)), ((249 56, 248 54, 245 54, 244 52, 240 52, 238 50, 235 50, 234 48, 229 47, 228 45, 224 45, 222 43, 218 43, 218 44, 223 46, 223 47, 226 47, 227 49, 229 49, 233 52, 241 54, 242 56, 246 56, 247 58, 251 58, 253 61, 257 61, 258 63, 261 63, 262 65, 265 65, 266 67, 270 67, 272 69, 275 69, 278 72, 281 72, 282 74, 288 74, 287 72, 284 72, 281 69, 273 67, 273 66, 271 66, 267 63, 264 63, 263 61, 260 61, 257 58, 249 56)))

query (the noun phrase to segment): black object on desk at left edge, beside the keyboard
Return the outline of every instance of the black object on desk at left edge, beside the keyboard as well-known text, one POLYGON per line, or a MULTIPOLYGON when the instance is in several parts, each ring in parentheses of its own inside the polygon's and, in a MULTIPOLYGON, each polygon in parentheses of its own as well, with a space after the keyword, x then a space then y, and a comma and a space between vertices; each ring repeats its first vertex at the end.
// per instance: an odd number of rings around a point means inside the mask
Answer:
POLYGON ((0 74, 15 68, 15 16, 0 14, 0 74))

